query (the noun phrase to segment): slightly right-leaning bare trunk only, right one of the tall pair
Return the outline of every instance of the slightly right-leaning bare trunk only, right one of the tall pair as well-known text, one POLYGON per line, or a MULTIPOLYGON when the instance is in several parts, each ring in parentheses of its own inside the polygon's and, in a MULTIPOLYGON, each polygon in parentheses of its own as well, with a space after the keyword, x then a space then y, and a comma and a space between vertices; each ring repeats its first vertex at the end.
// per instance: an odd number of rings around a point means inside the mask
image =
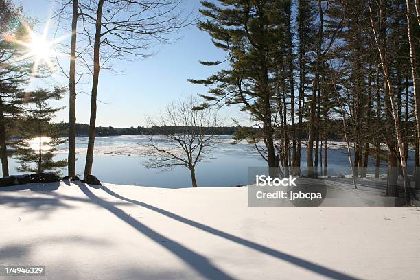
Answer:
POLYGON ((93 148, 95 147, 95 130, 96 130, 96 100, 97 100, 97 86, 99 83, 100 73, 100 40, 102 27, 102 7, 104 0, 100 0, 97 4, 97 15, 95 23, 95 41, 93 43, 93 79, 91 92, 91 119, 89 122, 89 141, 86 153, 86 165, 84 166, 84 178, 91 175, 93 165, 93 148))

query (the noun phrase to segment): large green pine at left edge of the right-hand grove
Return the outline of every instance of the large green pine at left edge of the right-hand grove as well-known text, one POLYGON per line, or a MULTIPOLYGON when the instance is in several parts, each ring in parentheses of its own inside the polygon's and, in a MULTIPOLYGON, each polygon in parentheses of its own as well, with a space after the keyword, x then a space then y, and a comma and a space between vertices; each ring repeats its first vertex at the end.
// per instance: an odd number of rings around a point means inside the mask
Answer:
POLYGON ((269 167, 278 167, 275 114, 284 107, 283 93, 287 90, 285 82, 278 77, 288 77, 287 67, 282 67, 288 63, 285 56, 288 18, 284 3, 268 0, 200 3, 204 7, 200 12, 207 20, 199 21, 198 27, 208 32, 215 47, 226 54, 224 62, 200 63, 226 66, 205 80, 190 79, 189 82, 211 87, 208 95, 202 95, 207 100, 203 107, 240 104, 242 110, 250 113, 255 126, 262 131, 262 139, 254 141, 255 148, 269 167), (264 141, 264 150, 259 149, 259 140, 264 141))

